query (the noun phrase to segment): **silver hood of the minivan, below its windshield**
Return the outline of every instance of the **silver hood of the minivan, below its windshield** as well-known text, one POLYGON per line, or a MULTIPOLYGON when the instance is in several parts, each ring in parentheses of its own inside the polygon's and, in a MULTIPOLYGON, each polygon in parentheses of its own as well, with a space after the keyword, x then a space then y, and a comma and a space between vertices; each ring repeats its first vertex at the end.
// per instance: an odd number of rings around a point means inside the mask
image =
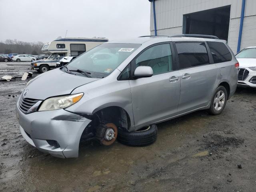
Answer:
POLYGON ((44 100, 48 97, 70 94, 78 86, 96 81, 96 78, 72 75, 59 68, 45 72, 28 84, 26 98, 44 100))

